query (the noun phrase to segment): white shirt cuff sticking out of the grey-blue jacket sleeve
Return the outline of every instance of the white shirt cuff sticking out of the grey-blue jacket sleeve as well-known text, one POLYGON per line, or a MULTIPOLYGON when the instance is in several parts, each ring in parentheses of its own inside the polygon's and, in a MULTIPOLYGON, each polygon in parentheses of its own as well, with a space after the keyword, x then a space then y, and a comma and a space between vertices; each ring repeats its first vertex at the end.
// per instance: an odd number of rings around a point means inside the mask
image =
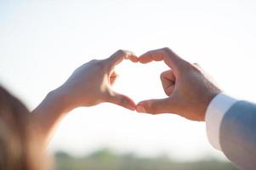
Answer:
POLYGON ((221 150, 219 143, 219 130, 222 118, 237 99, 233 99, 225 94, 218 94, 208 105, 205 122, 210 144, 217 150, 221 150))

